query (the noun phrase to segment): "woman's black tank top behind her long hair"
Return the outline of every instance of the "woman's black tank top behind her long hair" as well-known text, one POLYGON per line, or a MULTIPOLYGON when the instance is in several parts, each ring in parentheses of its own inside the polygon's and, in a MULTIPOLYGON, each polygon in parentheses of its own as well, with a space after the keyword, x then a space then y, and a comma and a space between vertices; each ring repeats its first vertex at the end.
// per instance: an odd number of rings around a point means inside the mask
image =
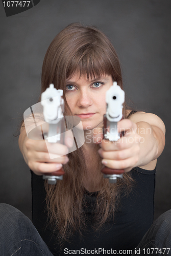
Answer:
MULTIPOLYGON (((40 236, 54 255, 66 255, 68 250, 105 250, 132 249, 134 250, 145 232, 153 223, 154 217, 154 170, 144 170, 135 167, 131 170, 135 185, 129 196, 120 199, 120 207, 115 212, 114 220, 107 222, 101 231, 94 231, 89 225, 80 237, 75 233, 70 242, 65 242, 61 253, 58 245, 57 234, 53 228, 47 226, 47 211, 45 202, 44 180, 32 171, 32 218, 40 236)), ((96 192, 86 192, 86 200, 92 205, 96 200, 96 192)), ((92 209, 86 211, 87 218, 91 220, 92 209)), ((71 251, 70 251, 71 252, 71 251)), ((101 253, 100 253, 101 254, 101 253)), ((103 252, 102 252, 103 254, 103 252)))

